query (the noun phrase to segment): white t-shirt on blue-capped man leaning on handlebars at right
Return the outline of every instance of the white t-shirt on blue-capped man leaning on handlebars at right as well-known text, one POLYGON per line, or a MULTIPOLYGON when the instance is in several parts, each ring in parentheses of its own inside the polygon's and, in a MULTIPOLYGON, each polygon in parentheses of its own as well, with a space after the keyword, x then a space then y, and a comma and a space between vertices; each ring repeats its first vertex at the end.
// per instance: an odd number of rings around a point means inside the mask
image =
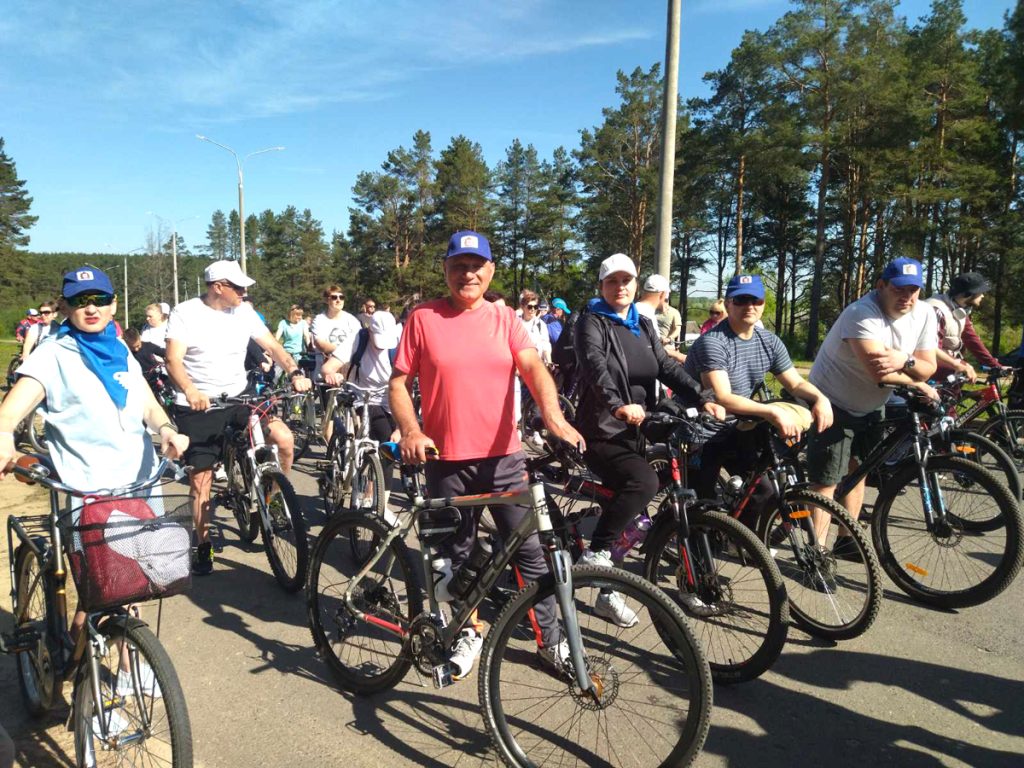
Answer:
POLYGON ((935 311, 924 301, 897 319, 882 311, 871 291, 853 302, 828 330, 811 367, 810 381, 836 406, 854 416, 864 416, 882 408, 891 394, 880 387, 857 355, 849 339, 870 339, 887 349, 907 354, 938 346, 935 311))

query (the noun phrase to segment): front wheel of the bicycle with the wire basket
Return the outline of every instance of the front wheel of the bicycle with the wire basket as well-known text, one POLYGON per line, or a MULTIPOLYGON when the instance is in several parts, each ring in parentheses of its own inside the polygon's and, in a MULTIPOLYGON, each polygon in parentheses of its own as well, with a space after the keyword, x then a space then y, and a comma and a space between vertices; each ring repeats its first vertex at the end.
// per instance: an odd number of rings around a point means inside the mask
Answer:
POLYGON ((99 632, 99 677, 86 656, 75 685, 76 765, 190 768, 188 708, 164 646, 141 622, 111 620, 99 632))

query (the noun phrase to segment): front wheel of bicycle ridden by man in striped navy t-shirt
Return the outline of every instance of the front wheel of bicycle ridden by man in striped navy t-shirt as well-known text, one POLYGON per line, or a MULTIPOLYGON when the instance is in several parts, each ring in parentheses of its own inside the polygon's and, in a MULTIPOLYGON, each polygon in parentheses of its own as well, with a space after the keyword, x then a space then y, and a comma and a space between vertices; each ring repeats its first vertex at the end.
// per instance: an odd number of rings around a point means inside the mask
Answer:
POLYGON ((825 640, 867 632, 882 608, 882 570, 866 531, 842 505, 790 488, 781 509, 761 516, 758 536, 782 573, 790 613, 800 629, 825 640), (843 542, 848 554, 837 557, 841 534, 850 536, 843 542))

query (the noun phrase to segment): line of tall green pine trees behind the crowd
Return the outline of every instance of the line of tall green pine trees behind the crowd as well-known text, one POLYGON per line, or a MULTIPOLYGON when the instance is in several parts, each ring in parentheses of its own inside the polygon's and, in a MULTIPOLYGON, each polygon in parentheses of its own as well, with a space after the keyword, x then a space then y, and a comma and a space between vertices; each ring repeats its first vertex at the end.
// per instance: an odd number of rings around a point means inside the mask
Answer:
MULTIPOLYGON (((768 30, 744 34, 706 75, 709 95, 678 104, 673 302, 691 308, 698 273, 721 294, 734 272, 759 271, 774 294, 766 322, 812 357, 842 308, 906 255, 925 263, 926 294, 959 271, 984 272, 994 295, 978 319, 994 346, 1007 342, 1024 319, 1010 290, 1024 278, 1022 8, 1000 29, 971 31, 961 0, 936 0, 912 25, 891 0, 797 0, 768 30)), ((490 237, 495 287, 512 297, 529 288, 579 305, 593 294, 596 264, 616 251, 646 274, 662 88, 657 65, 617 73, 616 103, 580 131, 578 146, 550 157, 516 139, 488 166, 471 138, 437 152, 418 130, 358 174, 345 232, 327 234, 309 209, 250 215, 257 303, 268 317, 293 302, 314 309, 335 281, 392 307, 437 295, 447 237, 461 228, 490 237)), ((4 226, 0 257, 24 260, 4 226)), ((237 258, 239 229, 236 211, 216 211, 205 244, 190 251, 179 239, 179 287, 195 293, 204 259, 237 258)), ((166 300, 169 246, 157 232, 145 255, 129 257, 138 263, 130 293, 166 300)), ((12 290, 32 295, 34 269, 11 271, 0 274, 5 304, 12 290)))

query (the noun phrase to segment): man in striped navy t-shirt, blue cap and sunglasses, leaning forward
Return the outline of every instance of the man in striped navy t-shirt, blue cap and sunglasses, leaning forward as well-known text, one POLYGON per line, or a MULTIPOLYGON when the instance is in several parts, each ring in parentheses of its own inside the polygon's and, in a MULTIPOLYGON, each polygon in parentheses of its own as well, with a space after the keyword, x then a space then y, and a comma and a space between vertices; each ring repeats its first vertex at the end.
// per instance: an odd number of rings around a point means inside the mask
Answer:
MULTIPOLYGON (((693 378, 715 392, 715 400, 736 416, 757 416, 770 422, 783 437, 797 437, 813 419, 820 429, 833 420, 831 406, 817 387, 805 381, 782 340, 761 324, 765 287, 759 274, 737 274, 725 292, 725 321, 697 339, 683 366, 693 378), (754 390, 771 372, 793 394, 811 403, 807 410, 784 402, 751 399, 754 390)), ((719 470, 742 472, 757 460, 751 440, 740 439, 734 427, 725 427, 711 438, 701 455, 697 496, 713 498, 719 470)))

